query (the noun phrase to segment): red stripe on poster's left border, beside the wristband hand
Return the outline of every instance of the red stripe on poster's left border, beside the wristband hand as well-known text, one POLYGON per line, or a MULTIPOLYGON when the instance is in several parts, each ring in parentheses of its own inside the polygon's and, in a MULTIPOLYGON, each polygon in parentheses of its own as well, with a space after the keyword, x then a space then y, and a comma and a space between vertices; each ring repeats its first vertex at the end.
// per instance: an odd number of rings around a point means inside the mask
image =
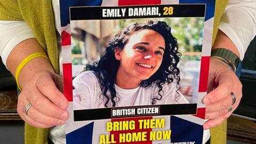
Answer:
POLYGON ((72 63, 63 63, 63 93, 68 101, 73 101, 72 63))

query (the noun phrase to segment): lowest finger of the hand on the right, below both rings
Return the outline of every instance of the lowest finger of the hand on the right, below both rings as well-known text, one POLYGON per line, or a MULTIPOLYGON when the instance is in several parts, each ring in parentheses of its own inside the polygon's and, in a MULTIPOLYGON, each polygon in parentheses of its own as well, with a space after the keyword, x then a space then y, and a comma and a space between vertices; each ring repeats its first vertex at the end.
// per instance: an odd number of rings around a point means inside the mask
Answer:
POLYGON ((221 125, 225 121, 225 119, 227 119, 231 115, 231 113, 232 112, 230 111, 226 115, 222 115, 222 116, 220 116, 218 118, 215 118, 215 119, 209 119, 208 121, 206 121, 204 123, 204 126, 203 126, 204 129, 207 130, 207 129, 210 129, 210 128, 221 125))

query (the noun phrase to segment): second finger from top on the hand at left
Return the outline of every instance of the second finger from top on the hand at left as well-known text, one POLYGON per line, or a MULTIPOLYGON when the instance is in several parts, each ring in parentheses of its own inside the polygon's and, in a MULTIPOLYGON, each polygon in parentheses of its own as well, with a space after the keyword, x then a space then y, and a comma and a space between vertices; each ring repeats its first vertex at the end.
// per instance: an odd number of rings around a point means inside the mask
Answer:
MULTIPOLYGON (((44 115, 58 118, 61 120, 66 120, 68 118, 68 111, 65 109, 61 109, 54 105, 52 101, 47 99, 39 90, 34 89, 34 91, 31 91, 33 93, 32 97, 29 97, 27 101, 31 103, 31 105, 44 115)), ((27 103, 23 105, 23 107, 26 107, 27 103)))

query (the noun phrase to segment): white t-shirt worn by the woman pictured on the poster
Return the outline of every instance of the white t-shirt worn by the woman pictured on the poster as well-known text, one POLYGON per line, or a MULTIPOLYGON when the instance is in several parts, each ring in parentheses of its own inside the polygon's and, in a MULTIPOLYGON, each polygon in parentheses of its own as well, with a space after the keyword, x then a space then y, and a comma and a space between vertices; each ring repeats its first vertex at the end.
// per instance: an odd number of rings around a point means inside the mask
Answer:
MULTIPOLYGON (((93 71, 85 71, 73 80, 73 106, 74 109, 104 108, 107 98, 102 95, 97 77, 93 71)), ((158 86, 152 84, 148 87, 136 87, 135 89, 122 89, 115 85, 116 106, 140 106, 152 105, 153 98, 160 98, 158 86)), ((155 100, 155 105, 189 103, 181 94, 177 93, 174 83, 163 85, 161 100, 155 100)), ((109 94, 109 92, 107 93, 109 94)), ((110 95, 110 94, 109 94, 110 95)), ((108 103, 111 107, 112 103, 108 103)))

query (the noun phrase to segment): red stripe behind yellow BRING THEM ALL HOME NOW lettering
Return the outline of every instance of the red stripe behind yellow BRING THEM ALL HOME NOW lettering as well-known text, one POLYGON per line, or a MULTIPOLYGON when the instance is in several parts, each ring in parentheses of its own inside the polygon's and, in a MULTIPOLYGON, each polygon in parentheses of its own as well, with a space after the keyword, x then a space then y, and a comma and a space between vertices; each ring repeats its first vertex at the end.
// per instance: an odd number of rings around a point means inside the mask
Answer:
POLYGON ((110 131, 110 138, 114 137, 116 143, 151 144, 150 132, 152 128, 150 128, 150 123, 153 121, 152 116, 111 119, 112 127, 110 129, 112 131, 110 131), (142 127, 140 127, 140 124, 142 127), (134 138, 140 139, 135 140, 134 138))

